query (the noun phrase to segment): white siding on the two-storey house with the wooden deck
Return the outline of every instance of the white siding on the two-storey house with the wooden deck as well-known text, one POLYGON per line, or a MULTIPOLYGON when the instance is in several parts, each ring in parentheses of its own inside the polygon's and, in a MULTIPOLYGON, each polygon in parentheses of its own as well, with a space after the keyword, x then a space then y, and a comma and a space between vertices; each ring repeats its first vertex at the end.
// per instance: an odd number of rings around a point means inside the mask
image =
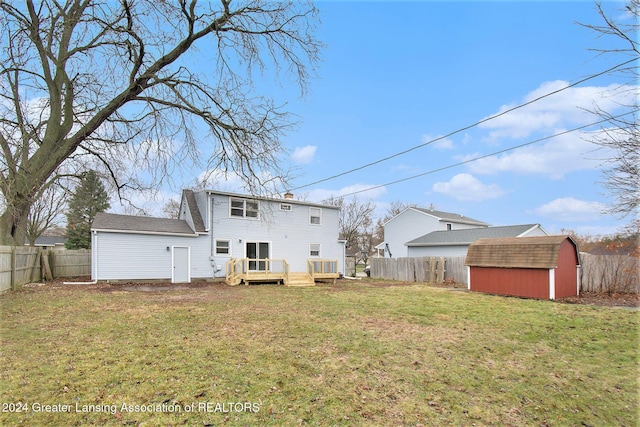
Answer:
MULTIPOLYGON (((289 201, 290 211, 280 210, 281 201, 260 201, 260 219, 231 217, 227 194, 195 193, 208 234, 198 237, 94 231, 92 235, 92 279, 171 279, 171 247, 186 246, 191 253, 191 278, 224 277, 231 258, 244 258, 246 242, 268 242, 272 259, 285 259, 292 272, 307 271, 310 244, 320 245, 320 257, 337 259, 344 272, 344 244, 338 242, 338 210, 322 207, 319 225, 309 223, 309 205, 289 201), (203 197, 203 194, 205 197, 203 197), (207 206, 210 205, 211 214, 207 206), (204 211, 202 210, 204 208, 204 211), (208 219, 207 216, 212 217, 208 219), (215 239, 229 240, 229 254, 215 255, 215 239), (167 251, 167 247, 169 250, 167 251)), ((243 198, 234 195, 234 198, 243 198)), ((248 197, 244 197, 248 199, 248 197)), ((182 207, 183 218, 190 219, 182 207)))

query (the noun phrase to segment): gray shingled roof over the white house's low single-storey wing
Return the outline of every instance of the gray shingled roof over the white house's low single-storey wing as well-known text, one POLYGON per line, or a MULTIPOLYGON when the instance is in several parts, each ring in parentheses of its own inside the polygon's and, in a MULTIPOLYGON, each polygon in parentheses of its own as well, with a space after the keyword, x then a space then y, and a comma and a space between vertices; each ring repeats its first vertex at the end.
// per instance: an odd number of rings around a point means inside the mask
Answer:
POLYGON ((195 235, 189 224, 182 219, 153 218, 148 216, 118 215, 100 212, 96 214, 92 230, 143 232, 157 234, 195 235))

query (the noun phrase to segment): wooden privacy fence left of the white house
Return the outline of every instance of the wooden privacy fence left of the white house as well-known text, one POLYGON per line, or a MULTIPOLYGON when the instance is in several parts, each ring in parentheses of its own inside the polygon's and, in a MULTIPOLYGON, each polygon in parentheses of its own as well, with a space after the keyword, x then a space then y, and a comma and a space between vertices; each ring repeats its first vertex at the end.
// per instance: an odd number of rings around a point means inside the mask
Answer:
POLYGON ((91 251, 46 250, 30 246, 0 246, 0 292, 17 289, 43 277, 91 275, 91 251))

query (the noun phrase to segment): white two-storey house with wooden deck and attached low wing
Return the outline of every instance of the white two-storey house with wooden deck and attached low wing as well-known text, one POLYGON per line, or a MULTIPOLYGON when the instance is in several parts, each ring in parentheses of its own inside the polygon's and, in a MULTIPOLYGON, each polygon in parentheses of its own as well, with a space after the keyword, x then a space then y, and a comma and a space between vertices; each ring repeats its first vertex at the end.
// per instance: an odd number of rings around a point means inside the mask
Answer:
POLYGON ((178 219, 100 213, 92 279, 195 278, 309 284, 344 271, 338 208, 213 190, 184 190, 178 219))

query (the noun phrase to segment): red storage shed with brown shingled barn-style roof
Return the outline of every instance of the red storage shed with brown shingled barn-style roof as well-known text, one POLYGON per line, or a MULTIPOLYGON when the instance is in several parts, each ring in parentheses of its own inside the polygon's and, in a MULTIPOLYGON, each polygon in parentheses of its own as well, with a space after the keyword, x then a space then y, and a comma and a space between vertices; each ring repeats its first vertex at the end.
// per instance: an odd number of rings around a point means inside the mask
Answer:
POLYGON ((580 252, 569 236, 479 239, 465 265, 471 291, 539 299, 580 293, 580 252))

